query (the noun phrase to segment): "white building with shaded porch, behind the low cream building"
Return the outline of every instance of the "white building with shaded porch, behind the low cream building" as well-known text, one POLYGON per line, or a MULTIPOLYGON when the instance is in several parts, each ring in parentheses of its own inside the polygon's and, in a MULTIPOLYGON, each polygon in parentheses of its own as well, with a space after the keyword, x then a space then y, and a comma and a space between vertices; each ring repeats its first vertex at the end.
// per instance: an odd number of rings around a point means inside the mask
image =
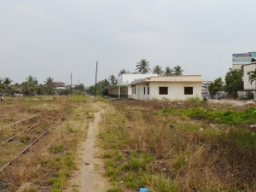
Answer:
POLYGON ((154 77, 157 74, 122 74, 118 83, 108 87, 108 96, 131 98, 131 82, 137 79, 154 77))

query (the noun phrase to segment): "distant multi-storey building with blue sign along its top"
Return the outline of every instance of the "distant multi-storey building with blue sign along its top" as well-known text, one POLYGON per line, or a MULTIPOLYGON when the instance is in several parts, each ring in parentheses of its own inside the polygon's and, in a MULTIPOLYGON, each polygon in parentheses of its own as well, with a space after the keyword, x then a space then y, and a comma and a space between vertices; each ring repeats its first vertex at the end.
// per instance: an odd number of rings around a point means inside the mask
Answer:
POLYGON ((256 52, 233 54, 232 69, 241 69, 241 66, 250 63, 253 58, 256 58, 256 52))

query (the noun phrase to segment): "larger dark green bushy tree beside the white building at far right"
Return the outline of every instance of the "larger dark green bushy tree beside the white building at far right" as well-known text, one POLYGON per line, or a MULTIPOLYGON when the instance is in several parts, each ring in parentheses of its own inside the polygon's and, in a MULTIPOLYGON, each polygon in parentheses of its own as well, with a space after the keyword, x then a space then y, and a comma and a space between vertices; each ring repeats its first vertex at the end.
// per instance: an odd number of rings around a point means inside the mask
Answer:
POLYGON ((242 76, 241 69, 231 70, 226 73, 224 90, 228 93, 228 96, 237 98, 237 91, 243 90, 242 76))

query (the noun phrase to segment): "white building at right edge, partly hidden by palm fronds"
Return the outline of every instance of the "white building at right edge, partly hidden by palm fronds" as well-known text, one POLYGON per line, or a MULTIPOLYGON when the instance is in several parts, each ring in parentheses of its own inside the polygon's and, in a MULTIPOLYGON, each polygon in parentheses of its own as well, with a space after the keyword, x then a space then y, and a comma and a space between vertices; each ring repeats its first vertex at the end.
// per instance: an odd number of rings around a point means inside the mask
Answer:
POLYGON ((244 90, 255 90, 256 89, 256 81, 253 81, 253 84, 249 82, 249 75, 252 71, 256 69, 256 61, 243 65, 243 85, 244 90))

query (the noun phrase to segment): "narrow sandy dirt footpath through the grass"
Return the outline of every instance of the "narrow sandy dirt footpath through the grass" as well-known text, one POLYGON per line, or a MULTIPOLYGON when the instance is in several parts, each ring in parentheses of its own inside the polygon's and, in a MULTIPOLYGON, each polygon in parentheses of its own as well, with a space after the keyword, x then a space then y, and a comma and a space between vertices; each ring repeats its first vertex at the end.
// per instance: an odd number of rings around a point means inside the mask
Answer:
POLYGON ((104 192, 108 189, 108 179, 102 176, 103 162, 97 158, 100 149, 96 137, 102 113, 102 109, 95 113, 94 121, 89 124, 87 138, 79 148, 79 170, 68 182, 69 188, 65 189, 65 192, 104 192))

